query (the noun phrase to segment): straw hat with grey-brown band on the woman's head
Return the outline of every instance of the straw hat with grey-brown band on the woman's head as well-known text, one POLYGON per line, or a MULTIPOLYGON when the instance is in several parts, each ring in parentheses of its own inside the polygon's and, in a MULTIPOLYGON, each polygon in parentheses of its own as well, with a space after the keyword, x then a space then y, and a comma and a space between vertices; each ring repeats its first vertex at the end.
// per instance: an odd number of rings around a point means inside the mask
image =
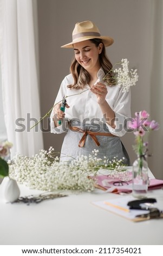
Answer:
POLYGON ((82 42, 93 38, 102 39, 105 46, 112 45, 114 42, 113 38, 110 38, 109 36, 101 36, 99 29, 92 21, 82 21, 75 25, 73 30, 73 41, 61 47, 73 48, 73 44, 76 42, 82 42))

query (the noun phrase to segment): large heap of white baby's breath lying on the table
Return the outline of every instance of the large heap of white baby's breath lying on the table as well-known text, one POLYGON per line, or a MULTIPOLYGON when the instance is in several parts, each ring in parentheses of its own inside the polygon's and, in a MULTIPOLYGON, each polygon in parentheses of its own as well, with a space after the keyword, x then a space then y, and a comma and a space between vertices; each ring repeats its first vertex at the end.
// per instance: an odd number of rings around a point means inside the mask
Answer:
POLYGON ((9 176, 19 184, 43 191, 93 191, 95 181, 90 176, 96 175, 101 168, 117 166, 120 169, 119 166, 123 166, 122 160, 117 163, 115 159, 114 162, 106 158, 102 160, 97 158, 97 153, 98 150, 94 150, 92 155, 70 162, 60 162, 52 147, 49 151, 41 150, 32 158, 17 154, 9 161, 9 176))

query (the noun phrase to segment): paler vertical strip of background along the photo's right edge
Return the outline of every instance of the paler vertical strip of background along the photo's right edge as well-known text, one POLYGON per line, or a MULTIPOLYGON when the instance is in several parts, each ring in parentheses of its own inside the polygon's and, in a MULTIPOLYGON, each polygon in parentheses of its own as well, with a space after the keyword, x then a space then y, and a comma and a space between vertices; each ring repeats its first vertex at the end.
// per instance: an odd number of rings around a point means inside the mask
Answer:
POLYGON ((162 152, 163 152, 163 1, 157 0, 153 6, 153 55, 151 77, 151 116, 160 124, 157 132, 152 132, 149 137, 149 152, 152 157, 148 163, 158 179, 163 179, 162 152))

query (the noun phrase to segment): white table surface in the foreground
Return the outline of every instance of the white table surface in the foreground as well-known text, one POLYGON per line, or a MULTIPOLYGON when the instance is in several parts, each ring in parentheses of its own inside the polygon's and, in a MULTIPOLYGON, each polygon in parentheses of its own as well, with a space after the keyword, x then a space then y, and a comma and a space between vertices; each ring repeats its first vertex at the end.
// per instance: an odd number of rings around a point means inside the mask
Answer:
MULTIPOLYGON (((21 196, 40 193, 19 188, 21 196)), ((26 205, 5 203, 0 192, 0 245, 163 245, 163 218, 135 223, 92 204, 120 196, 95 190, 26 205)), ((163 209, 163 190, 148 197, 163 209)))

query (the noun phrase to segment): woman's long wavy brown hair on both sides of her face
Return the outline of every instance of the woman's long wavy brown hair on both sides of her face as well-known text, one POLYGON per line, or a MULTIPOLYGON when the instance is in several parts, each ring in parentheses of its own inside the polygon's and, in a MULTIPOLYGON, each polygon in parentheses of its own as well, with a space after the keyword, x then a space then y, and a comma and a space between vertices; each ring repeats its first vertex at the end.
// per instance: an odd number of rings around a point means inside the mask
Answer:
MULTIPOLYGON (((90 39, 90 41, 92 41, 93 44, 96 45, 96 47, 98 47, 100 43, 103 44, 102 40, 98 38, 90 39)), ((112 71, 113 65, 106 55, 106 49, 104 45, 102 47, 102 52, 99 54, 99 60, 102 69, 105 72, 105 78, 103 81, 105 81, 108 86, 114 86, 116 83, 112 71)), ((71 62, 70 72, 73 75, 74 84, 69 84, 68 88, 84 88, 84 86, 86 86, 86 84, 90 82, 90 75, 88 71, 77 62, 75 57, 73 57, 73 60, 71 62)))

